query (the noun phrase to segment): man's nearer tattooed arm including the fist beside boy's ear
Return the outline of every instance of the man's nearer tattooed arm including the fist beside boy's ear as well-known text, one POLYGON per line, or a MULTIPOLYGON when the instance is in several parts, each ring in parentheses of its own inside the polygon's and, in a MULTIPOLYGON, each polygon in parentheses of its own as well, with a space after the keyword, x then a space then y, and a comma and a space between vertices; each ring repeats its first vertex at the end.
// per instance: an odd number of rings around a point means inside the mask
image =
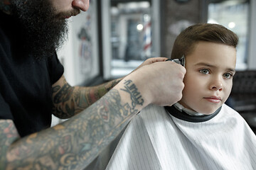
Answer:
POLYGON ((19 137, 12 120, 0 120, 0 169, 83 169, 149 103, 181 98, 185 69, 174 62, 145 66, 69 120, 19 137))

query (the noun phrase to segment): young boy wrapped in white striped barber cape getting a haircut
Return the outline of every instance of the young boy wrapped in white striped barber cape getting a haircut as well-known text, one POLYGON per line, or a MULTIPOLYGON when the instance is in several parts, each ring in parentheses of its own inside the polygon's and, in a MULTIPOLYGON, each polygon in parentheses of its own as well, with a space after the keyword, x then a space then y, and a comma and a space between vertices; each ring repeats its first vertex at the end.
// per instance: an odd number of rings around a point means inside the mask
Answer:
POLYGON ((235 74, 238 37, 217 24, 196 24, 174 42, 185 56, 181 101, 147 106, 128 125, 107 169, 256 169, 256 137, 225 105, 235 74))

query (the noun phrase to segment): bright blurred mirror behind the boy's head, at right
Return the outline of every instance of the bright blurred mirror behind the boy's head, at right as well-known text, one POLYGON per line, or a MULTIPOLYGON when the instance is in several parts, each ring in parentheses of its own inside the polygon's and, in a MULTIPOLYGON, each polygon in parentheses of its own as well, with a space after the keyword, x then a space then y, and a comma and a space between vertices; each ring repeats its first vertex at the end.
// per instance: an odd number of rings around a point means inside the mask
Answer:
POLYGON ((249 41, 249 1, 212 1, 208 4, 208 23, 218 23, 233 30, 239 37, 237 69, 247 69, 249 41))

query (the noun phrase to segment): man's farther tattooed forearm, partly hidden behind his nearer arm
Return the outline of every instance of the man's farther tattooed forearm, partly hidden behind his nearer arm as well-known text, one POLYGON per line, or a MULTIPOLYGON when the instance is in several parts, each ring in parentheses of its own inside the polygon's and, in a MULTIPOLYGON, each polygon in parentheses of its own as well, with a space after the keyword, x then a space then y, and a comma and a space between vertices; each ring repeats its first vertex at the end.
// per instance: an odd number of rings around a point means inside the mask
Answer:
POLYGON ((71 118, 95 103, 121 79, 116 79, 99 86, 70 86, 62 76, 53 84, 53 114, 58 118, 71 118))

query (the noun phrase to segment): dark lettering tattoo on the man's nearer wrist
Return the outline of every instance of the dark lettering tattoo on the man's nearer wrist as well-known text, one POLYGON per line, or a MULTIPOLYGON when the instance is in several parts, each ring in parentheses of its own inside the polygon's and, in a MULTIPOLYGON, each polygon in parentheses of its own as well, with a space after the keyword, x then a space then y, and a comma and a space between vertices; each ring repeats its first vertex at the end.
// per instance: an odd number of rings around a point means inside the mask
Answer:
POLYGON ((137 105, 143 105, 144 99, 142 98, 142 95, 139 93, 137 86, 133 84, 132 80, 125 80, 124 81, 124 88, 121 89, 122 91, 126 91, 130 94, 132 99, 132 109, 134 109, 137 105))

